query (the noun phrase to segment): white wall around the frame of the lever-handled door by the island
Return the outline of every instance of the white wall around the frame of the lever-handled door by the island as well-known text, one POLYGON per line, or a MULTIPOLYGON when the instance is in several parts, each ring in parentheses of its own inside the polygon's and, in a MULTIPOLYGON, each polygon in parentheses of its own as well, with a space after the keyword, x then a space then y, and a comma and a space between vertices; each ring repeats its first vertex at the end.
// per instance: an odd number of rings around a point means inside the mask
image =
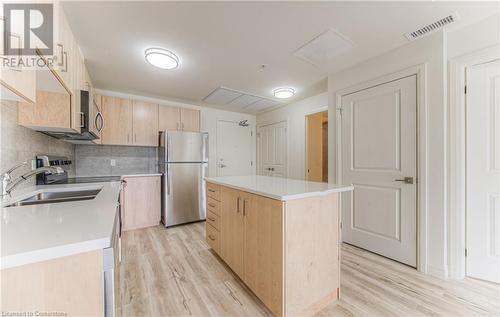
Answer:
MULTIPOLYGON (((333 124, 336 104, 335 92, 400 70, 425 65, 426 83, 423 104, 427 108, 427 127, 419 131, 419 138, 427 134, 424 159, 426 173, 421 175, 426 182, 427 201, 421 201, 422 216, 426 217, 424 229, 427 248, 423 257, 427 258, 424 268, 430 274, 446 276, 446 87, 445 87, 445 34, 434 33, 420 40, 367 60, 357 66, 332 74, 328 77, 330 110, 329 129, 329 179, 336 179, 336 142, 333 124)), ((422 181, 422 180, 421 180, 422 181)), ((422 197, 422 196, 421 196, 422 197)), ((424 195, 425 197, 425 195, 424 195)), ((422 259, 421 259, 422 260, 422 259)), ((423 259, 425 260, 425 259, 423 259)))

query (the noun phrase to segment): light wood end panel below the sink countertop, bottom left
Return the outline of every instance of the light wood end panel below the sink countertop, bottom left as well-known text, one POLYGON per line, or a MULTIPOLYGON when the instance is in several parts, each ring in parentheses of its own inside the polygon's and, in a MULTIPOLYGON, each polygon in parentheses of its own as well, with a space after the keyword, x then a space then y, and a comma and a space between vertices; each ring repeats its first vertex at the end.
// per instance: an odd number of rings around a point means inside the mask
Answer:
POLYGON ((102 250, 3 269, 0 311, 104 316, 103 274, 102 250))

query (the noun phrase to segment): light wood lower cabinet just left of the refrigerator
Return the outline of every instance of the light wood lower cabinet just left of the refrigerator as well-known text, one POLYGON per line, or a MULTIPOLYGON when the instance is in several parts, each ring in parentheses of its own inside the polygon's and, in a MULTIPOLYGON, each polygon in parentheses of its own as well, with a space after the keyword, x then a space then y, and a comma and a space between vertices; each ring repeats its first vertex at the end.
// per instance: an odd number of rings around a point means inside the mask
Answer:
POLYGON ((123 230, 157 226, 160 223, 160 176, 125 177, 122 195, 123 230))

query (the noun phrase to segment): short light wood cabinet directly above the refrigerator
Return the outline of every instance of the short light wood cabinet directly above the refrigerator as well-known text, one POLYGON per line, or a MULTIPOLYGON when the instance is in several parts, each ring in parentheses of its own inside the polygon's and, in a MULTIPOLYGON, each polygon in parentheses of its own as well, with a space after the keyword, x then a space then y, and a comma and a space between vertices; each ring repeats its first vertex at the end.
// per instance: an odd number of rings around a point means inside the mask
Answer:
POLYGON ((200 111, 172 106, 159 106, 158 129, 200 132, 200 111))

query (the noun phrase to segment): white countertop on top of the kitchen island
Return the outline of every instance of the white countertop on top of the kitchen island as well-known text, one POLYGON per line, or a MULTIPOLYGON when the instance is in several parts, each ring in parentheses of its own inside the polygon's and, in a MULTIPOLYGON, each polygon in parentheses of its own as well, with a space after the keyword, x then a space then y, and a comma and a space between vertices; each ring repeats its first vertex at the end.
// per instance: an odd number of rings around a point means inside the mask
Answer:
POLYGON ((210 183, 282 201, 345 192, 354 189, 350 185, 327 184, 259 175, 206 177, 205 180, 210 183))

